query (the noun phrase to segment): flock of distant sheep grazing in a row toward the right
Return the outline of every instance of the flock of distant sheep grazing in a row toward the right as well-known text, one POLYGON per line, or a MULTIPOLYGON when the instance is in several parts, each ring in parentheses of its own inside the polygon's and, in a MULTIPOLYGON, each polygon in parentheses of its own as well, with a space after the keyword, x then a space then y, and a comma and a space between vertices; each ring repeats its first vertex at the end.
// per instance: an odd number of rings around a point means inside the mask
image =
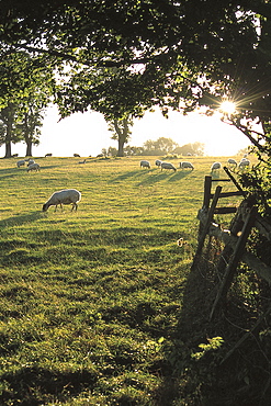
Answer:
MULTIPOLYGON (((156 162, 155 162, 155 165, 157 167, 160 167, 161 170, 162 169, 171 169, 174 172, 177 171, 177 168, 171 162, 165 162, 165 161, 161 161, 161 160, 157 159, 156 162)), ((249 159, 247 157, 244 157, 244 158, 241 158, 240 162, 238 163, 234 158, 229 158, 228 159, 228 165, 232 168, 237 168, 238 167, 240 170, 244 170, 246 167, 249 167, 250 166, 250 161, 249 161, 249 159)), ((148 160, 142 160, 140 161, 140 168, 148 168, 148 169, 150 169, 150 162, 148 160)), ((193 163, 191 163, 189 161, 182 161, 182 162, 180 162, 180 168, 181 169, 191 169, 191 170, 194 170, 193 163)), ((211 173, 215 173, 215 172, 219 171, 221 168, 222 168, 222 163, 221 162, 214 162, 211 166, 211 173)))

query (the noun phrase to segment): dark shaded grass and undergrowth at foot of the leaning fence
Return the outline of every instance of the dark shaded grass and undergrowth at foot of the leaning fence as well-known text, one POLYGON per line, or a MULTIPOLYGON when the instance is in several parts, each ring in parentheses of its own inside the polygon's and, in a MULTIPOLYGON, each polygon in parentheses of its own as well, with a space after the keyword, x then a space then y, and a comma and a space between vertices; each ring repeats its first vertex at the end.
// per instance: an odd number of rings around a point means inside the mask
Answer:
MULTIPOLYGON (((215 252, 207 250, 206 253, 187 277, 179 323, 171 349, 163 359, 166 368, 160 392, 165 394, 165 387, 171 386, 169 406, 174 405, 177 398, 185 401, 185 397, 188 404, 199 406, 269 405, 270 361, 264 351, 259 351, 252 334, 226 362, 222 362, 244 337, 244 331, 251 329, 255 315, 232 293, 221 312, 210 319, 218 277, 215 252), (208 347, 212 338, 217 337, 224 340, 222 346, 208 347), (193 359, 195 353, 200 354, 199 359, 193 359), (173 374, 180 377, 176 380, 173 374), (244 382, 245 374, 249 383, 244 382)), ((262 329, 269 328, 267 319, 262 324, 262 329)))

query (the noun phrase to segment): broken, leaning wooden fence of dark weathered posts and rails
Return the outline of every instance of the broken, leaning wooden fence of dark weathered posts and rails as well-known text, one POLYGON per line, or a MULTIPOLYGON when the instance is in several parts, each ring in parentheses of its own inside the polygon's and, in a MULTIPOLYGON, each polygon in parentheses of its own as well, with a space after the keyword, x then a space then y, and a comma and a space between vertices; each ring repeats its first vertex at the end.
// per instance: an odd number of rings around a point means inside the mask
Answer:
POLYGON ((227 179, 216 180, 212 179, 212 177, 205 177, 203 206, 197 214, 197 218, 200 219, 199 241, 191 267, 191 269, 196 267, 207 235, 214 236, 224 243, 224 249, 217 262, 218 273, 222 275, 222 279, 211 309, 210 319, 214 317, 225 302, 237 266, 240 261, 246 262, 249 268, 271 285, 271 268, 246 249, 247 239, 253 227, 271 241, 271 224, 257 212, 253 199, 242 191, 229 170, 226 167, 224 170, 228 176, 227 179), (219 183, 233 182, 236 190, 223 193, 223 188, 217 185, 215 193, 212 193, 212 184, 216 181, 219 181, 219 183), (242 196, 240 205, 238 207, 217 206, 221 199, 229 196, 242 196), (215 222, 215 214, 235 214, 230 222, 229 229, 224 229, 215 222))

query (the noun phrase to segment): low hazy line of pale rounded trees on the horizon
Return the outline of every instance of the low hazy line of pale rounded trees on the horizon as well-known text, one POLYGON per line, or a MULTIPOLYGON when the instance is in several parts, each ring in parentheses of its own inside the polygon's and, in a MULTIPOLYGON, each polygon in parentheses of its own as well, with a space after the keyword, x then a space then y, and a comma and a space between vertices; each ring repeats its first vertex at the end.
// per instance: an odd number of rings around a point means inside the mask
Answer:
MULTIPOLYGON (((123 153, 125 156, 163 156, 169 154, 203 156, 204 147, 204 144, 199 142, 179 146, 171 138, 159 137, 156 140, 146 140, 142 147, 127 145, 123 148, 123 153)), ((106 157, 117 156, 118 149, 114 147, 103 148, 102 154, 106 157)))

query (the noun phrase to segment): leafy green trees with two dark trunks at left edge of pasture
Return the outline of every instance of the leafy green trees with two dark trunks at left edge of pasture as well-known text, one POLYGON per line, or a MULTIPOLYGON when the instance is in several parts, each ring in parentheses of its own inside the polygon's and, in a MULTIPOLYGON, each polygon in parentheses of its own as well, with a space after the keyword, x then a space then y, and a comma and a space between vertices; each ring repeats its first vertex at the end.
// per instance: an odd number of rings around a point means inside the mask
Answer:
POLYGON ((41 66, 39 58, 31 58, 21 52, 1 60, 0 79, 0 114, 5 128, 1 136, 5 158, 11 157, 11 144, 21 140, 26 144, 26 156, 32 155, 32 144, 38 144, 38 127, 52 94, 52 70, 41 66))

